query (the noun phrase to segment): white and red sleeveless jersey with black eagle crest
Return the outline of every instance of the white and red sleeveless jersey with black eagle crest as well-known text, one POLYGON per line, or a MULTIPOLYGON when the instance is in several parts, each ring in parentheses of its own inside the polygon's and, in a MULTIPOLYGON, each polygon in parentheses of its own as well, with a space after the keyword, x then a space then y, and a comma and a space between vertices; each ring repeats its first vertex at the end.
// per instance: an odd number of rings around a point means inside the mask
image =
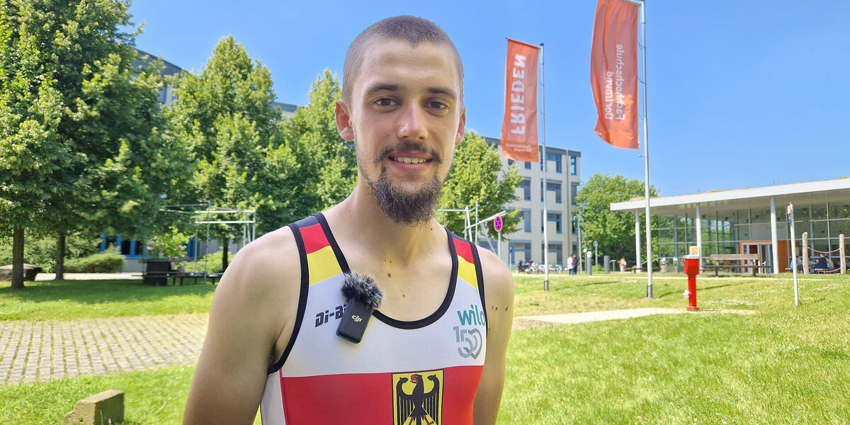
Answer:
MULTIPOLYGON (((487 317, 475 246, 446 230, 451 277, 437 311, 375 310, 360 343, 337 337, 348 263, 321 214, 290 224, 301 258, 295 328, 263 392, 264 425, 471 425, 487 317)), ((380 282, 378 282, 380 285, 380 282)))

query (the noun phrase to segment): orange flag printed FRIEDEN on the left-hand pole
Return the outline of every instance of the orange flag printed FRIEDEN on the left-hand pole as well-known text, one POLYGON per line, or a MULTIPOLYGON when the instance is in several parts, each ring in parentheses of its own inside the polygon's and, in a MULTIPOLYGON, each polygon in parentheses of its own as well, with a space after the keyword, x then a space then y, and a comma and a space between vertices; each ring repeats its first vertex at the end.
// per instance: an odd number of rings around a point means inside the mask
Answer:
POLYGON ((507 40, 505 120, 501 153, 513 161, 540 161, 537 151, 537 46, 507 40))

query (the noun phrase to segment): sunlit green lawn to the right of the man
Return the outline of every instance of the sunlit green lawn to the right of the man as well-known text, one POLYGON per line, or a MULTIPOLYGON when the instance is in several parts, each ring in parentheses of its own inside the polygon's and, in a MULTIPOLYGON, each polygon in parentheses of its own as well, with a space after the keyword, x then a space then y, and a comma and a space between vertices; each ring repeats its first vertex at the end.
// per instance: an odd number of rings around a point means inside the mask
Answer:
MULTIPOLYGON (((516 314, 687 306, 684 279, 618 277, 520 277, 516 314)), ((516 331, 499 423, 850 423, 850 279, 799 288, 698 279, 699 313, 516 331)))

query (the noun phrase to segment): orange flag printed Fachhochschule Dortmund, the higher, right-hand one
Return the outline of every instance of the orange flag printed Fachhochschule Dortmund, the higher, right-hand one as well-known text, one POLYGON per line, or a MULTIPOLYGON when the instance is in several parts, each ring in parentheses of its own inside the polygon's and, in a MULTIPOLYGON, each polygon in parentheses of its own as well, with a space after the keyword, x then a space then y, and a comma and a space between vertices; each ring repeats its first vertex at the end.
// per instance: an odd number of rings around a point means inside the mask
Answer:
POLYGON ((638 149, 638 4, 598 0, 590 82, 596 133, 618 148, 638 149))

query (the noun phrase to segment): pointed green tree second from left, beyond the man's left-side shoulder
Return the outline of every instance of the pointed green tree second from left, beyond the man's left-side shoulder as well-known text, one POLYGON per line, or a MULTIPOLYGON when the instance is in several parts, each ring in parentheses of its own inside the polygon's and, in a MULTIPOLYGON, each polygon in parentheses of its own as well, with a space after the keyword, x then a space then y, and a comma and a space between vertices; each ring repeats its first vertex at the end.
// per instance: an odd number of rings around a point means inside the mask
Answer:
MULTIPOLYGON (((213 207, 258 207, 251 190, 263 170, 280 110, 273 101, 271 73, 248 57, 233 36, 222 38, 195 75, 184 72, 173 80, 176 101, 167 111, 173 137, 190 144, 195 199, 213 207)), ((228 263, 233 226, 213 228, 223 242, 222 266, 228 263)))

